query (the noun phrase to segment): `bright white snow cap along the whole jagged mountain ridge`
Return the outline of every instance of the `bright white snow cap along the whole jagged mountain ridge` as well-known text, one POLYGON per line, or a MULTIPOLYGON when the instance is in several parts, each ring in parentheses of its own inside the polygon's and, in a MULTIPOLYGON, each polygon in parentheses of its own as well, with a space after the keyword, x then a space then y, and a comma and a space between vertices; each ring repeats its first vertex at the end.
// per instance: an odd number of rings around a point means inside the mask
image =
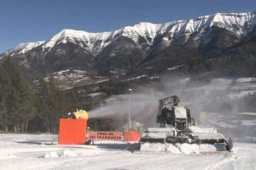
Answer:
MULTIPOLYGON (((124 35, 124 36, 129 36, 129 35, 126 35, 127 31, 137 31, 137 33, 139 33, 141 36, 143 36, 143 35, 145 35, 145 33, 149 33, 148 30, 151 30, 151 33, 156 35, 156 34, 159 33, 159 31, 161 33, 165 32, 166 29, 170 26, 172 26, 172 28, 169 29, 168 31, 171 34, 175 34, 175 33, 176 34, 181 34, 183 31, 187 32, 187 33, 189 33, 189 32, 192 33, 192 32, 198 31, 202 28, 205 28, 207 26, 213 26, 215 23, 224 23, 225 21, 230 22, 230 18, 226 18, 223 21, 223 18, 221 18, 221 16, 224 16, 224 18, 225 17, 231 17, 231 21, 237 21, 237 22, 238 22, 238 20, 235 20, 234 18, 232 20, 232 17, 234 17, 234 16, 236 16, 236 17, 245 17, 244 21, 247 20, 247 21, 249 21, 248 23, 253 21, 254 24, 256 24, 256 20, 254 19, 255 13, 256 13, 256 11, 250 11, 250 12, 247 12, 247 13, 244 13, 244 12, 242 12, 242 13, 215 13, 215 14, 211 14, 211 15, 204 15, 204 16, 196 17, 194 19, 189 19, 189 20, 177 20, 177 21, 172 21, 172 22, 168 22, 168 23, 159 23, 159 24, 149 23, 149 22, 140 22, 138 24, 135 24, 134 26, 125 26, 125 27, 119 28, 119 29, 114 30, 114 31, 96 32, 96 33, 82 31, 82 30, 63 29, 60 32, 58 32, 57 34, 55 34, 55 36, 53 36, 51 39, 49 39, 47 41, 38 41, 38 42, 43 42, 40 45, 42 45, 44 43, 47 43, 44 46, 44 48, 49 48, 52 45, 55 45, 55 43, 61 43, 61 42, 58 42, 58 40, 60 40, 60 39, 64 39, 62 41, 62 43, 65 43, 67 41, 67 40, 65 40, 66 37, 81 38, 81 36, 84 36, 84 38, 86 38, 87 40, 90 40, 90 41, 93 40, 93 39, 94 40, 107 40, 107 39, 111 38, 110 36, 115 36, 116 34, 119 34, 119 33, 122 33, 122 35, 124 35), (198 20, 201 21, 201 22, 203 20, 203 23, 198 23, 198 20), (209 22, 209 20, 210 20, 210 22, 209 22), (186 24, 186 26, 184 27, 183 24, 186 24), (177 26, 177 27, 175 27, 175 26, 177 26), (175 30, 179 29, 180 27, 183 27, 184 30, 181 30, 181 32, 180 31, 175 32, 175 30), (141 33, 143 33, 143 34, 141 34, 141 33), (54 42, 54 43, 52 43, 52 42, 54 42)), ((243 22, 243 21, 241 21, 241 22, 243 22)), ((230 23, 230 24, 232 24, 232 23, 230 23)), ((239 26, 244 26, 244 23, 239 23, 238 22, 236 24, 239 25, 239 26)), ((248 24, 248 25, 250 25, 250 24, 248 24)), ((241 28, 241 30, 236 32, 236 33, 238 35, 240 35, 240 34, 243 34, 244 31, 246 31, 246 30, 247 29, 242 30, 242 28, 241 28)), ((232 29, 229 29, 229 31, 233 31, 235 33, 235 31, 232 30, 232 29)), ((161 33, 159 33, 159 34, 161 34, 161 33)), ((155 35, 153 37, 151 37, 152 40, 155 38, 155 35)), ((133 40, 136 42, 135 38, 133 40)), ((88 44, 89 44, 88 46, 93 48, 94 44, 90 43, 90 41, 88 41, 88 44)), ((37 42, 27 42, 27 43, 24 43, 24 44, 30 44, 30 43, 37 43, 37 42)), ((150 44, 150 41, 148 41, 148 43, 150 44)), ((17 45, 17 46, 19 46, 19 45, 17 45)), ((106 43, 106 45, 103 45, 103 48, 107 45, 108 45, 108 43, 106 43)), ((15 47, 17 47, 17 46, 15 46, 15 47)), ((37 45, 37 46, 39 46, 39 45, 37 45)), ((36 48, 37 46, 35 46, 33 48, 36 48)), ((10 51, 14 48, 11 48, 7 51, 10 51)))

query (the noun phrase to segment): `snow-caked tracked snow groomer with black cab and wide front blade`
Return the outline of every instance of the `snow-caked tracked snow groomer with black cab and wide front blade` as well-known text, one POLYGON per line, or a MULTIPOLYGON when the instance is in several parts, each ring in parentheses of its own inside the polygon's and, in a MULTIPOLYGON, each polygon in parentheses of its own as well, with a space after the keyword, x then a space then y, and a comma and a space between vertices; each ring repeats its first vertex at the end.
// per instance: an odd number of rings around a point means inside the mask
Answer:
POLYGON ((149 127, 140 139, 141 153, 209 154, 232 150, 232 139, 225 139, 215 128, 197 127, 179 96, 159 100, 157 127, 149 127))

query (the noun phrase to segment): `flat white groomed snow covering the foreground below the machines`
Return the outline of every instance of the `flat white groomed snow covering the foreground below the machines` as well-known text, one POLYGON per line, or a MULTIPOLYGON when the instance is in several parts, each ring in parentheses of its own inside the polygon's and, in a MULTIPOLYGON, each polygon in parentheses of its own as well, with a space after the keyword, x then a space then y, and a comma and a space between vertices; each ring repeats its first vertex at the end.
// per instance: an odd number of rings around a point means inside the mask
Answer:
POLYGON ((233 153, 228 155, 191 156, 131 153, 125 150, 128 145, 125 142, 46 145, 14 141, 52 142, 57 138, 57 135, 0 134, 0 170, 253 170, 256 167, 256 144, 249 143, 234 143, 233 153), (44 153, 51 156, 42 159, 44 153), (68 154, 59 156, 64 153, 68 154))

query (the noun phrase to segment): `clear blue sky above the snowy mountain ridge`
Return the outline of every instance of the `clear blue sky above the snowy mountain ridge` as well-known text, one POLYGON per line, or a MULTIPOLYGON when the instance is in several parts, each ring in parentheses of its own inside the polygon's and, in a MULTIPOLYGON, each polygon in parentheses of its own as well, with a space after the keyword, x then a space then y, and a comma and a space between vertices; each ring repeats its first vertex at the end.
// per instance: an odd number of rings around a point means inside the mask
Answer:
POLYGON ((256 0, 3 0, 0 53, 20 42, 48 40, 64 28, 112 31, 139 22, 254 10, 256 0))

